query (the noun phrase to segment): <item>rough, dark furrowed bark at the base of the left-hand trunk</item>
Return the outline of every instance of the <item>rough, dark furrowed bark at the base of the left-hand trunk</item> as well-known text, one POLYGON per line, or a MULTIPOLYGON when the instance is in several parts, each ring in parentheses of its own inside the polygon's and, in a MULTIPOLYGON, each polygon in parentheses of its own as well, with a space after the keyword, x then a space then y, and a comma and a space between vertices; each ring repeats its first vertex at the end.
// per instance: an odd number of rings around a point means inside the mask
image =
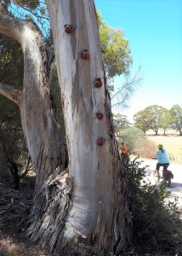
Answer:
POLYGON ((54 179, 53 175, 49 176, 44 186, 37 184, 27 235, 51 252, 61 246, 58 241, 63 239, 61 231, 65 227, 64 218, 70 204, 71 190, 67 172, 54 179), (40 187, 41 191, 38 192, 40 187))

